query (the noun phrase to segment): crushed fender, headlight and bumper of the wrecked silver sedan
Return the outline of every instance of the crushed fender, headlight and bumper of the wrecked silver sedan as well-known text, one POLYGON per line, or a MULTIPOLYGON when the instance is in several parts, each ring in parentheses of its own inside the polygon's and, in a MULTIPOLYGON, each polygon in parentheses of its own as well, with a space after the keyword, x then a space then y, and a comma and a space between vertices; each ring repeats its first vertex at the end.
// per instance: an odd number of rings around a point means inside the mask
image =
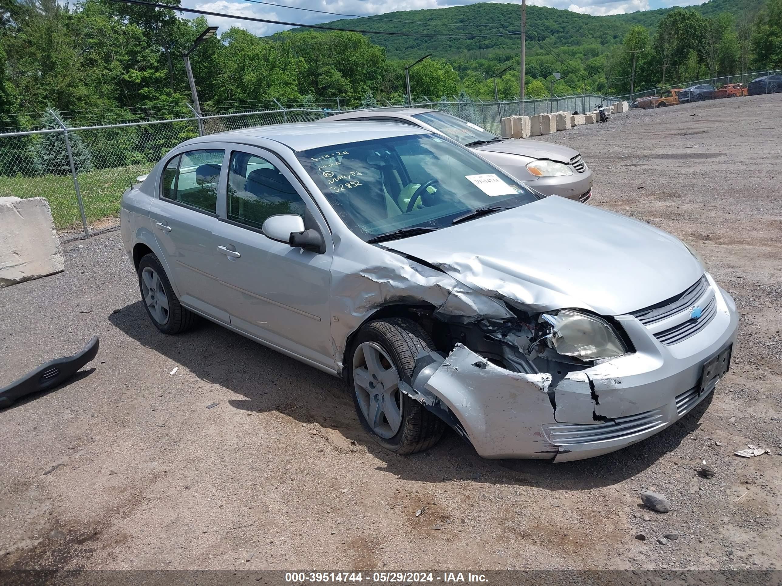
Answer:
POLYGON ((419 323, 438 352, 418 356, 400 388, 485 458, 562 462, 636 443, 709 395, 724 373, 705 380, 709 359, 722 352, 730 359, 735 305, 708 274, 716 317, 701 338, 672 352, 634 316, 598 315, 542 278, 481 275, 486 259, 465 263, 467 272, 382 254, 382 264, 346 267, 335 282, 337 356, 367 320, 419 323))

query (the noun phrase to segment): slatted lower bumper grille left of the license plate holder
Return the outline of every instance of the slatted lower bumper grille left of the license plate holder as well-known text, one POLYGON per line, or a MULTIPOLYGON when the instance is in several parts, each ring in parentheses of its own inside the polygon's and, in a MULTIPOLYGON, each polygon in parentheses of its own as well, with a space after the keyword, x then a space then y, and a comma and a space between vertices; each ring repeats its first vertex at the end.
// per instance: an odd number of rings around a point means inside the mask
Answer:
POLYGON ((665 425, 661 409, 651 409, 637 415, 617 417, 606 423, 557 423, 547 427, 549 441, 554 445, 583 445, 610 441, 652 431, 665 425))

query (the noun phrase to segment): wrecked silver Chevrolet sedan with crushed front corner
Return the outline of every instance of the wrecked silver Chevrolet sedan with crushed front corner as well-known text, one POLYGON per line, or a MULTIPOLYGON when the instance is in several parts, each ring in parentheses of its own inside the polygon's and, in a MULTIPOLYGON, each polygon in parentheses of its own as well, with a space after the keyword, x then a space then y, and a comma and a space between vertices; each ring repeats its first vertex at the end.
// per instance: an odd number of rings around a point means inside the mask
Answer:
POLYGON ((486 458, 612 452, 730 365, 736 307, 687 245, 417 127, 195 138, 124 193, 121 225, 158 330, 203 316, 343 377, 400 454, 447 427, 486 458))

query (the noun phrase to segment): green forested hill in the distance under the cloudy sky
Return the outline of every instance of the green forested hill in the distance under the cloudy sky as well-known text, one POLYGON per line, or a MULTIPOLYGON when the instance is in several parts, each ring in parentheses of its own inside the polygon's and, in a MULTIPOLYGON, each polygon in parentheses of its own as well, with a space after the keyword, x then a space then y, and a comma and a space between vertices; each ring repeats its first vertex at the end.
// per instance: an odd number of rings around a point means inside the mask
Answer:
MULTIPOLYGON (((703 5, 688 7, 702 16, 732 13, 754 16, 765 0, 710 0, 703 5)), ((556 47, 601 45, 608 48, 622 42, 635 24, 654 28, 665 13, 673 8, 647 10, 614 16, 589 16, 569 10, 527 6, 527 34, 529 39, 551 38, 556 47)), ((372 19, 342 19, 326 23, 328 26, 364 30, 455 35, 466 33, 502 33, 520 30, 518 4, 480 3, 442 9, 411 10, 386 13, 372 19), (381 20, 382 19, 382 20, 381 20), (383 20, 388 20, 383 22, 383 20), (398 22, 398 21, 407 22, 398 22), (421 24, 417 24, 421 23, 421 24)), ((300 31, 303 29, 293 29, 300 31)), ((490 53, 518 53, 518 36, 473 38, 419 38, 393 37, 384 34, 369 36, 372 43, 386 48, 389 59, 411 59, 431 53, 436 58, 462 57, 486 59, 490 53)), ((528 52, 537 52, 530 46, 528 52)))

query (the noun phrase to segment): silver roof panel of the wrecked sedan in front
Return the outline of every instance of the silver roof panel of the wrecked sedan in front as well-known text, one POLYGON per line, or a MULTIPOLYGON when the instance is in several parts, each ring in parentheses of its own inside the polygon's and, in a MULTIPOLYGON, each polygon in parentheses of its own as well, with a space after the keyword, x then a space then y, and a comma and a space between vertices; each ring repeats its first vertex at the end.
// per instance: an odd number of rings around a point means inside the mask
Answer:
POLYGON ((410 134, 430 134, 429 130, 414 126, 403 126, 393 122, 345 122, 324 124, 321 122, 298 122, 271 124, 229 130, 218 134, 193 138, 188 145, 199 142, 238 142, 242 145, 263 146, 263 140, 279 142, 294 151, 307 151, 346 142, 369 141, 373 138, 392 138, 410 134))

